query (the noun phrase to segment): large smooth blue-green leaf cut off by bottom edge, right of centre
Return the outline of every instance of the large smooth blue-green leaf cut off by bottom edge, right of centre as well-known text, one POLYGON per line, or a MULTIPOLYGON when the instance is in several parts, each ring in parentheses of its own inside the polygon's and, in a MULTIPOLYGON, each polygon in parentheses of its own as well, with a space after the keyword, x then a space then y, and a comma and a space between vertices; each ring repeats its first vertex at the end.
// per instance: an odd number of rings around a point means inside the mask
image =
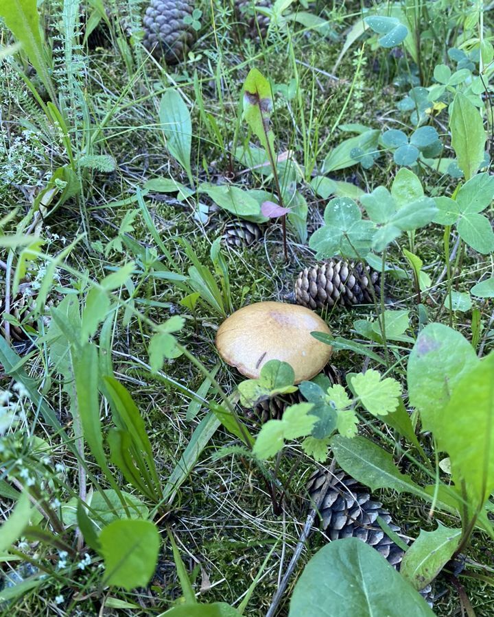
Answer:
POLYGON ((419 592, 362 540, 335 540, 305 566, 289 617, 434 617, 419 592))

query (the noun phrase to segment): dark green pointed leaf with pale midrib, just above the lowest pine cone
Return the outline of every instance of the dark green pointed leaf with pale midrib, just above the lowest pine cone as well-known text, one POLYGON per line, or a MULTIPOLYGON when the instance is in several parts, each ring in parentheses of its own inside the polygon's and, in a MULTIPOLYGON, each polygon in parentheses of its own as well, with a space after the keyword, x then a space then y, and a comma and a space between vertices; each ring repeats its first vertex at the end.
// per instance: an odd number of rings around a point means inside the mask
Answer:
POLYGON ((369 439, 360 435, 353 439, 333 435, 330 444, 342 470, 372 491, 378 488, 392 488, 399 493, 408 492, 424 498, 423 490, 410 476, 399 471, 392 456, 369 439))

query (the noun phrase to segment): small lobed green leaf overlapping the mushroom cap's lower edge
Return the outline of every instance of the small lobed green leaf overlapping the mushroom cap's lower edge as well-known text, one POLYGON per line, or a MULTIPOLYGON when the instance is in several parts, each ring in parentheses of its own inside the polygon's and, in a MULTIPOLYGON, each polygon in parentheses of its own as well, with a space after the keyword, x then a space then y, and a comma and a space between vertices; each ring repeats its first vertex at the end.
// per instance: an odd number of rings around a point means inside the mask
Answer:
POLYGON ((239 383, 240 400, 244 407, 255 407, 260 400, 295 392, 294 380, 295 373, 290 364, 270 360, 261 367, 259 378, 239 383))

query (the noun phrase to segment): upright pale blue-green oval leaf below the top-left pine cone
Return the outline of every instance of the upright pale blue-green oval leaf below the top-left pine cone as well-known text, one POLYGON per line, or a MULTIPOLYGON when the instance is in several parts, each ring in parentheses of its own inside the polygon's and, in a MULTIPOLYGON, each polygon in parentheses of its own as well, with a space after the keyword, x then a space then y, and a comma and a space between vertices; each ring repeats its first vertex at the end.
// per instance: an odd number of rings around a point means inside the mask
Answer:
POLYGON ((189 109, 178 90, 169 88, 161 97, 159 120, 166 138, 168 152, 185 169, 189 182, 193 186, 190 163, 192 123, 189 109))

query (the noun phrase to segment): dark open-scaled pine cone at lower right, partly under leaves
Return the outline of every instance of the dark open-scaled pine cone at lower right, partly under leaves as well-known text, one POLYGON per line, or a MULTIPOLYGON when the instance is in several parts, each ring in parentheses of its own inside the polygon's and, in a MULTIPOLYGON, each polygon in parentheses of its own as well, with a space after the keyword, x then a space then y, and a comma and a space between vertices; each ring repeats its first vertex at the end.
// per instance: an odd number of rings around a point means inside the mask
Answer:
MULTIPOLYGON (((311 503, 317 503, 322 486, 327 479, 327 470, 317 470, 307 483, 311 503)), ((384 533, 377 522, 380 516, 392 531, 400 531, 392 522, 390 513, 379 501, 371 500, 366 487, 342 471, 331 474, 329 489, 319 508, 320 527, 329 540, 358 537, 373 546, 389 563, 399 570, 404 551, 384 533)), ((408 544, 408 540, 403 538, 408 544)), ((432 605, 432 586, 420 592, 432 605)))

